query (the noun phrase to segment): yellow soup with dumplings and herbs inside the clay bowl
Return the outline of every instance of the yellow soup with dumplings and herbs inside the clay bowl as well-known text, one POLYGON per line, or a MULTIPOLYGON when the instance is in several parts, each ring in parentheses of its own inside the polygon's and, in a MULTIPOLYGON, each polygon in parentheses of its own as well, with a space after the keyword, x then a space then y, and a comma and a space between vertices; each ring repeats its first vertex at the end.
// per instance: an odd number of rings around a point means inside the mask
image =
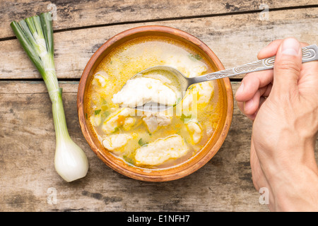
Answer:
POLYGON ((168 65, 185 76, 201 76, 213 67, 190 46, 168 37, 136 38, 114 49, 94 72, 86 118, 105 152, 129 165, 173 167, 199 153, 222 117, 219 81, 192 85, 182 102, 165 112, 139 112, 112 102, 114 94, 139 71, 168 65))

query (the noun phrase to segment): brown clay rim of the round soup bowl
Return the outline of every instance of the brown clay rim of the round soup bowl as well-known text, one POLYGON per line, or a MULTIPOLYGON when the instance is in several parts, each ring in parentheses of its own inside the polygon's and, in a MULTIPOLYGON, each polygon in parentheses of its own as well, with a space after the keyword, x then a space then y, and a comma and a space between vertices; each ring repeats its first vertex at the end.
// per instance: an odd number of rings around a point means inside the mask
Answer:
POLYGON ((224 69, 223 64, 220 62, 216 54, 214 54, 214 52, 206 44, 204 44, 204 42, 187 32, 162 25, 143 25, 140 27, 131 28, 111 37, 109 40, 107 40, 107 42, 102 44, 102 46, 93 54, 92 57, 90 57, 78 84, 77 108, 78 120, 83 136, 86 138, 90 148, 100 158, 100 160, 102 160, 102 162, 120 174, 125 175, 126 177, 148 182, 165 182, 180 179, 192 174, 193 172, 196 172, 196 170, 206 165, 206 163, 211 160, 214 155, 216 155, 220 147, 223 145, 223 142, 225 141, 230 129, 233 114, 233 95, 229 78, 221 79, 223 93, 226 94, 226 98, 224 98, 226 99, 224 100, 226 109, 223 109, 223 119, 221 119, 223 127, 217 129, 217 134, 215 133, 211 138, 209 138, 204 148, 202 148, 198 154, 194 155, 194 157, 192 157, 190 160, 177 165, 176 167, 170 167, 167 169, 151 170, 140 169, 139 167, 131 167, 124 161, 119 160, 118 157, 114 157, 114 155, 103 151, 100 142, 97 141, 97 138, 95 138, 92 131, 89 129, 90 126, 88 124, 88 119, 86 119, 85 116, 84 105, 88 82, 90 82, 93 71, 95 71, 96 66, 100 64, 100 61, 102 61, 102 59, 104 59, 104 57, 111 52, 112 49, 119 47, 126 41, 132 40, 135 37, 154 34, 172 37, 176 40, 182 40, 183 42, 190 44, 192 47, 199 50, 201 54, 204 54, 217 71, 224 69), (105 52, 108 53, 105 54, 105 52), (103 54, 105 56, 103 56, 103 54))

